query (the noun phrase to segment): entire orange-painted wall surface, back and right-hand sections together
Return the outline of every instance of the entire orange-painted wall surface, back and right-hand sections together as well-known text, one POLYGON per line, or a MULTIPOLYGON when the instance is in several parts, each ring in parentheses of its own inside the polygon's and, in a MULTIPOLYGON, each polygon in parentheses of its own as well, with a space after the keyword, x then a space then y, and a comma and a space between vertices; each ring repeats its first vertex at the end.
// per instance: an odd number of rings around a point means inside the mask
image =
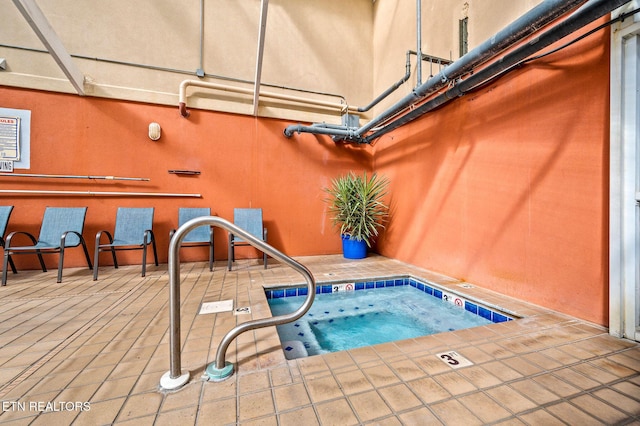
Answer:
MULTIPOLYGON (((1 195, 9 231, 38 231, 45 206, 88 206, 85 235, 113 229, 118 206, 154 206, 160 258, 179 206, 262 207, 269 241, 290 255, 338 253, 322 187, 348 170, 391 179, 377 250, 599 324, 608 322, 608 33, 526 65, 377 140, 336 145, 282 136, 283 121, 0 87, 32 112, 29 173, 150 182, 0 178, 2 188, 200 193, 202 198, 1 195), (156 121, 162 138, 152 142, 156 121), (170 169, 199 170, 184 177, 170 169)), ((16 170, 16 172, 27 172, 16 170)), ((216 258, 226 258, 216 231, 216 258)), ((255 256, 247 251, 245 256, 255 256)), ((109 263, 106 254, 102 262, 109 263)), ((139 253, 122 253, 139 263, 139 253)), ((183 251, 206 258, 206 249, 183 251)), ((20 268, 35 259, 18 257, 20 268)), ((48 264, 55 267, 55 259, 48 264)), ((66 265, 81 266, 79 250, 66 265)))

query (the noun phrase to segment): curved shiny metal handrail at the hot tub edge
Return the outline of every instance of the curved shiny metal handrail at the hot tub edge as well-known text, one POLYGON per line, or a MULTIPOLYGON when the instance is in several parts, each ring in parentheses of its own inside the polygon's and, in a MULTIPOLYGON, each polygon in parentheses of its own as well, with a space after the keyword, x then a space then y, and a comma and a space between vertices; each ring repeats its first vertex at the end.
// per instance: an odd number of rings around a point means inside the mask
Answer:
POLYGON ((220 342, 216 353, 215 363, 207 367, 207 374, 217 381, 224 380, 233 374, 233 365, 225 361, 226 352, 231 342, 245 331, 256 328, 292 322, 302 317, 311 305, 316 295, 316 282, 311 271, 304 265, 296 262, 281 251, 268 245, 266 242, 239 228, 233 223, 217 216, 202 216, 185 222, 178 228, 169 243, 169 346, 170 346, 170 370, 162 376, 160 386, 164 389, 176 389, 189 380, 189 372, 183 373, 180 354, 180 254, 179 249, 182 240, 193 229, 203 226, 215 226, 240 236, 251 246, 261 250, 270 257, 290 266, 298 271, 307 281, 307 298, 296 311, 271 318, 262 318, 239 324, 231 329, 220 342), (213 374, 213 375, 212 375, 213 374))

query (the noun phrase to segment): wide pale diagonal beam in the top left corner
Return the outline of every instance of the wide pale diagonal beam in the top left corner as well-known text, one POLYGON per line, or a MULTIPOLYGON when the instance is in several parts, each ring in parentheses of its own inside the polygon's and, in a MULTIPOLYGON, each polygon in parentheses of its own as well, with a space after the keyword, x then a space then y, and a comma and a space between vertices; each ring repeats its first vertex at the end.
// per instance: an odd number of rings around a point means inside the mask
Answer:
POLYGON ((35 0, 13 0, 24 19, 27 20, 31 29, 36 33, 42 44, 45 45, 53 59, 67 76, 69 82, 76 89, 80 96, 84 96, 84 76, 71 60, 71 55, 64 48, 35 0))

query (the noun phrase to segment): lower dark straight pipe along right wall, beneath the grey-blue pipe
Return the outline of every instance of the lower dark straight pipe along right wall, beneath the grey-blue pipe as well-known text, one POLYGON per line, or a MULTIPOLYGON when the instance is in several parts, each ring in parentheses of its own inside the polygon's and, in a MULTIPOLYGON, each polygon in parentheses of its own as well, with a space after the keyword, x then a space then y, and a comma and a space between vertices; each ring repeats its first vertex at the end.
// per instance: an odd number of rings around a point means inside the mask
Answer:
POLYGON ((514 51, 507 53, 496 62, 490 64, 486 68, 475 72, 468 78, 461 80, 453 87, 448 89, 441 95, 425 102, 416 107, 409 113, 401 116, 392 123, 375 131, 364 138, 364 143, 370 143, 372 140, 397 129, 398 127, 415 120, 416 118, 432 111, 445 103, 463 96, 466 92, 474 89, 476 86, 502 75, 502 73, 510 70, 522 60, 528 58, 536 52, 550 46, 563 37, 579 30, 585 25, 601 18, 605 14, 614 9, 628 3, 630 0, 590 0, 583 7, 569 16, 566 20, 554 26, 544 34, 536 37, 531 42, 516 48, 514 51))

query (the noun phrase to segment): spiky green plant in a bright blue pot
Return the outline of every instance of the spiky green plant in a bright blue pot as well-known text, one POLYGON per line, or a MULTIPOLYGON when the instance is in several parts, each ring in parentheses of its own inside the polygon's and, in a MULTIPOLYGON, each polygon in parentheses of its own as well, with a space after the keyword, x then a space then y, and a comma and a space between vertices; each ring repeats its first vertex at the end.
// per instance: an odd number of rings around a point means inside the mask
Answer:
POLYGON ((363 176, 349 172, 331 181, 325 188, 333 224, 340 226, 342 250, 348 259, 367 256, 367 247, 384 228, 388 206, 383 198, 387 194, 389 180, 384 176, 365 172, 363 176))

